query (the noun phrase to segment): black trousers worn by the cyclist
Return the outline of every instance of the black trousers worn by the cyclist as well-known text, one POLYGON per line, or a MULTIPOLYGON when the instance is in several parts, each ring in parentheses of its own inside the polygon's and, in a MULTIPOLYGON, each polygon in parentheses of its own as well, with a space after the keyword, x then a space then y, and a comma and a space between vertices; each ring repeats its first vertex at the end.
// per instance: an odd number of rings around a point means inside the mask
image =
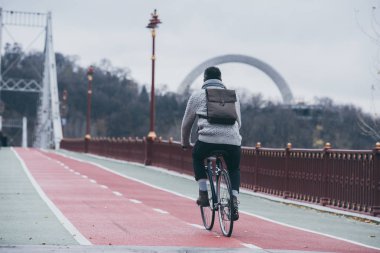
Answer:
POLYGON ((231 179, 232 190, 239 191, 240 187, 240 154, 241 147, 228 144, 206 143, 197 140, 193 147, 193 169, 195 180, 207 179, 204 160, 215 150, 223 150, 223 156, 231 179))

